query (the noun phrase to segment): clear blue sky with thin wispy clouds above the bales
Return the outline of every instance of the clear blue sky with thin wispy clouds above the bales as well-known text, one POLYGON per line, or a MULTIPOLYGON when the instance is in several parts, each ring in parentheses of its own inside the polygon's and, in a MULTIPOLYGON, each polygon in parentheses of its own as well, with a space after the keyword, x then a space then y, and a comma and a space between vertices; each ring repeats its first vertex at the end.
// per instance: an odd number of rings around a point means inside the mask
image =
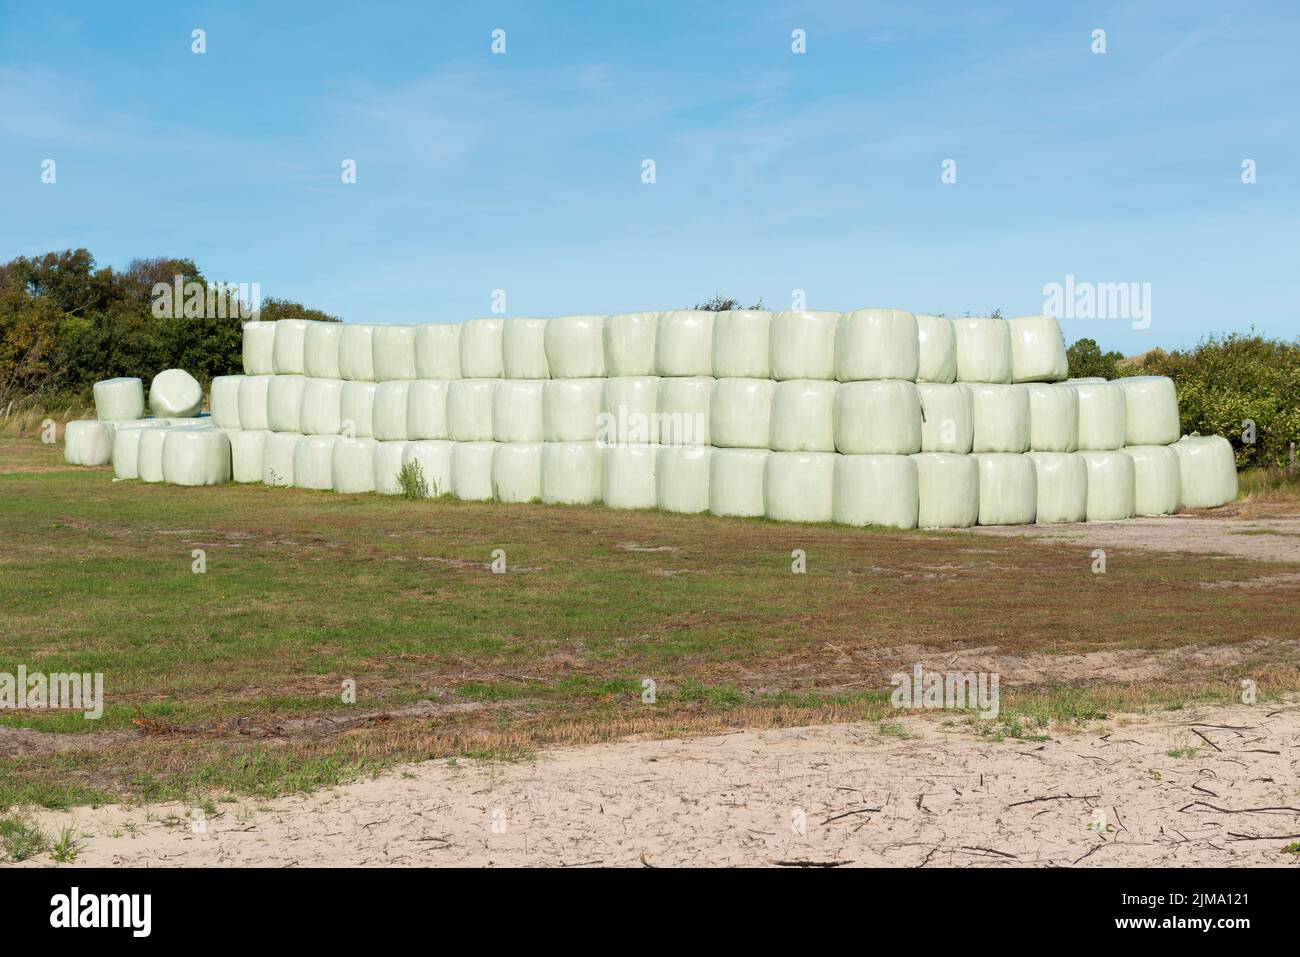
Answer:
POLYGON ((1152 321, 1069 341, 1292 338, 1296 51, 1294 4, 3 0, 0 260, 190 256, 395 322, 495 289, 1024 315, 1072 274, 1149 282, 1152 321))

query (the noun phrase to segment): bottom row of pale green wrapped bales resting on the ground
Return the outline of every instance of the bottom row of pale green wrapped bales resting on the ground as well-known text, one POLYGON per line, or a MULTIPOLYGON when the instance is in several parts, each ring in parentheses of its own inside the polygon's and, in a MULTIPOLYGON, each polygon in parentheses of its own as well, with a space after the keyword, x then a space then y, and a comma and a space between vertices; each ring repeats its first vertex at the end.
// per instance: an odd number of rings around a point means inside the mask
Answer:
POLYGON ((897 528, 1117 521, 1236 498, 1232 447, 1218 436, 1118 451, 841 455, 597 442, 380 441, 159 424, 120 429, 113 465, 118 478, 176 485, 233 480, 897 528))

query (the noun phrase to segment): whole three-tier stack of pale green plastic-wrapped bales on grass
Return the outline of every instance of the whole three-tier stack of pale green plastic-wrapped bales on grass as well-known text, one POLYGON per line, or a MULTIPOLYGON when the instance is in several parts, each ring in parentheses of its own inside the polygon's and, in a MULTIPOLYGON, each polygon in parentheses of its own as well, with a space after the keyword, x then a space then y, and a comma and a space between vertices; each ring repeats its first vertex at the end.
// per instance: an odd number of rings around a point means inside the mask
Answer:
POLYGON ((900 528, 1236 497, 1228 442, 1179 438, 1170 380, 1067 378, 1046 316, 282 320, 244 325, 243 365, 212 381, 222 439, 165 438, 214 459, 177 475, 394 493, 419 463, 429 495, 900 528))

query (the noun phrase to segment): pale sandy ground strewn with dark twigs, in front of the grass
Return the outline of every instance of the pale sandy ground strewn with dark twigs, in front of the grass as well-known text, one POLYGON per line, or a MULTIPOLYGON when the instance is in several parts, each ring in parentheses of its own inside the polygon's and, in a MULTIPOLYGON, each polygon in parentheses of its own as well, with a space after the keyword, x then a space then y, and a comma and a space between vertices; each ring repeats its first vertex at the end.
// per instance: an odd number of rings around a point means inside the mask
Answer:
POLYGON ((885 731, 426 762, 218 805, 202 830, 185 806, 36 817, 77 827, 79 865, 1300 866, 1282 850, 1300 840, 1300 698, 1114 716, 1043 741, 940 715, 885 731))

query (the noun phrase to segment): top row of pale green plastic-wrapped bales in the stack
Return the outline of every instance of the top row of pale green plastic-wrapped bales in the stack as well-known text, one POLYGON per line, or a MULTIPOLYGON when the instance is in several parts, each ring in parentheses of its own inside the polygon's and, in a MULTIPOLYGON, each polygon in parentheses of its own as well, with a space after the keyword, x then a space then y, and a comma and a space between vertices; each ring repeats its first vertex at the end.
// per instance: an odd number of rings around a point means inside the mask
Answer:
POLYGON ((1050 316, 944 319, 901 309, 248 322, 243 367, 250 376, 363 382, 618 376, 1058 382, 1069 376, 1065 341, 1050 316))

